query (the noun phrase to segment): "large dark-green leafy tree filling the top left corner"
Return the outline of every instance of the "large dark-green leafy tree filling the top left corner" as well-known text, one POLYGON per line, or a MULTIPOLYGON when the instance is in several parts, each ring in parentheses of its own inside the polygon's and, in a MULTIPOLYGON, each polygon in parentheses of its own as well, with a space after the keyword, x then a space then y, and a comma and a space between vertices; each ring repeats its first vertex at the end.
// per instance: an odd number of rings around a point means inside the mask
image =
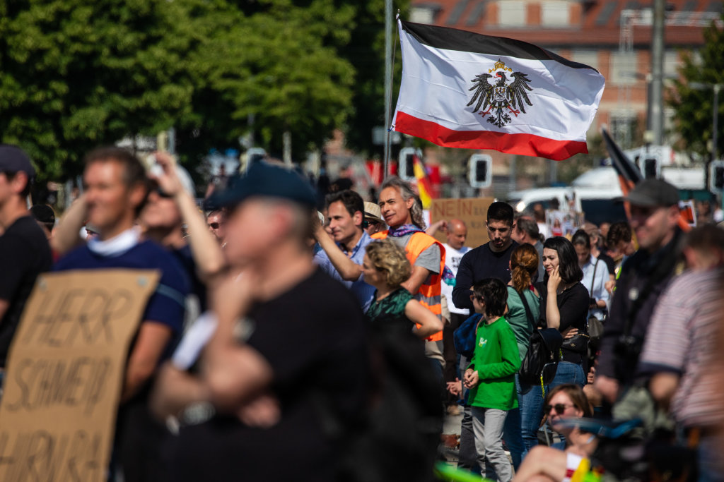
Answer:
POLYGON ((2 142, 49 179, 96 145, 170 126, 193 92, 184 19, 166 0, 0 2, 2 142))

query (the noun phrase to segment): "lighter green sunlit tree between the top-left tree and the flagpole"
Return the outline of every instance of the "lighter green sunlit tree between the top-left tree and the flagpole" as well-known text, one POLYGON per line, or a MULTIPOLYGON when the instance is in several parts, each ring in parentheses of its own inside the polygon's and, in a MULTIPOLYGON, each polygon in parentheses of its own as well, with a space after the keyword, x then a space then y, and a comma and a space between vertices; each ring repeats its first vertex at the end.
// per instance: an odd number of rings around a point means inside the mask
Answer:
POLYGON ((257 145, 280 152, 289 131, 299 157, 350 111, 355 72, 337 46, 348 40, 354 9, 332 0, 261 3, 251 14, 227 4, 206 17, 217 28, 190 56, 196 88, 180 135, 188 153, 236 145, 250 130, 257 145))

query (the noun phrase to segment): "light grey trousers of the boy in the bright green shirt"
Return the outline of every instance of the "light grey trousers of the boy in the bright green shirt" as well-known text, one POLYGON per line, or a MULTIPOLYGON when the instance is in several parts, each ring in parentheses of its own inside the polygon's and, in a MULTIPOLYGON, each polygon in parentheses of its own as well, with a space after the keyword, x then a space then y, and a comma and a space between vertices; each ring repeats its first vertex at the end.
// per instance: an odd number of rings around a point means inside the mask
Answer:
POLYGON ((508 412, 480 407, 472 407, 471 412, 481 473, 485 473, 485 465, 489 463, 495 469, 498 481, 510 482, 513 478, 513 466, 502 448, 502 429, 508 412))

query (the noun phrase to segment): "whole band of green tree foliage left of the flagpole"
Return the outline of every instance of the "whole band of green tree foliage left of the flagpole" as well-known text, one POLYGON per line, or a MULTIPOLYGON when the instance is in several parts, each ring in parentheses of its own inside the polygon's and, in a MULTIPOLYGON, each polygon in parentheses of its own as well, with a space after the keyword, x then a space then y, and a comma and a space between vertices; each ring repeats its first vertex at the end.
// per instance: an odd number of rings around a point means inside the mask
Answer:
POLYGON ((296 158, 348 119, 369 139, 378 123, 359 113, 382 112, 382 6, 0 0, 0 141, 62 179, 97 145, 170 126, 192 163, 250 130, 270 151, 291 132, 296 158))

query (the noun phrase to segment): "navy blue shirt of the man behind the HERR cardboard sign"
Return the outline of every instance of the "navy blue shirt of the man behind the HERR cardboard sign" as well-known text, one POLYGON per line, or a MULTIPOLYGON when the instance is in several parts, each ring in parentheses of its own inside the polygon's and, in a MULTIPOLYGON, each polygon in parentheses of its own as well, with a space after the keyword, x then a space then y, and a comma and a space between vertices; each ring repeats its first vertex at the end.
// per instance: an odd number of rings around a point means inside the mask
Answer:
POLYGON ((156 291, 148 299, 143 311, 143 321, 164 324, 172 331, 172 343, 164 351, 162 359, 171 355, 183 328, 185 297, 190 282, 188 276, 173 255, 153 241, 140 241, 128 251, 117 256, 93 253, 88 246, 80 246, 59 259, 54 271, 104 270, 129 268, 135 270, 159 270, 161 279, 156 291))

